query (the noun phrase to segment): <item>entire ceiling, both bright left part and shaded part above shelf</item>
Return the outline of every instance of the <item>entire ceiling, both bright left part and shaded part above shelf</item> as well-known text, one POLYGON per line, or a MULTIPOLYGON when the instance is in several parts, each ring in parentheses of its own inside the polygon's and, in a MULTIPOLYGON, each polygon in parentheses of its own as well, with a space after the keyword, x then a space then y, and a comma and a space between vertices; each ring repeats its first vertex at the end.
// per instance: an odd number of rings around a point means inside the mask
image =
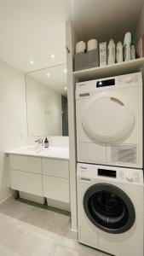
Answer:
POLYGON ((66 63, 71 10, 78 40, 101 42, 134 33, 142 5, 143 0, 0 0, 0 59, 24 73, 66 63))

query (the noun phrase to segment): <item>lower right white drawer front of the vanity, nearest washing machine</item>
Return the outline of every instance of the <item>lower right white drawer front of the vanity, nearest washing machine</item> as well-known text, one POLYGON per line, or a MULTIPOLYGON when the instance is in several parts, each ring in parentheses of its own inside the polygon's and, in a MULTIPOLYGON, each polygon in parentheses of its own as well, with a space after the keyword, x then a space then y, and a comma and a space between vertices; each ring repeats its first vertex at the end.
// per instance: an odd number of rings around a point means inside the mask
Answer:
POLYGON ((43 196, 56 201, 69 203, 69 180, 43 175, 43 196))

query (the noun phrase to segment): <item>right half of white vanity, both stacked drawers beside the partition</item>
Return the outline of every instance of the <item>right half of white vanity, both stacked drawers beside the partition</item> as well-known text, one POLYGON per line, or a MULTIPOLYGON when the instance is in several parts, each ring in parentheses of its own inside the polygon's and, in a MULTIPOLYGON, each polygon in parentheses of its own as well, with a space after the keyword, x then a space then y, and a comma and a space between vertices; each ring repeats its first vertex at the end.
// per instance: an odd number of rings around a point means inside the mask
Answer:
POLYGON ((70 202, 68 160, 42 158, 43 196, 65 203, 70 202))

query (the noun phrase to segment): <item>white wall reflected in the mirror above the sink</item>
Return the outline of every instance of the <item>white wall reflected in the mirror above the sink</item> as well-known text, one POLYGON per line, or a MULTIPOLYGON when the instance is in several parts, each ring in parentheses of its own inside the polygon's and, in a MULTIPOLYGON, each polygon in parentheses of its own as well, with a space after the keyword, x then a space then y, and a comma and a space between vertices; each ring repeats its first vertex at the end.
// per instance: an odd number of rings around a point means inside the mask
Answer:
POLYGON ((61 95, 26 75, 29 136, 61 136, 61 95))

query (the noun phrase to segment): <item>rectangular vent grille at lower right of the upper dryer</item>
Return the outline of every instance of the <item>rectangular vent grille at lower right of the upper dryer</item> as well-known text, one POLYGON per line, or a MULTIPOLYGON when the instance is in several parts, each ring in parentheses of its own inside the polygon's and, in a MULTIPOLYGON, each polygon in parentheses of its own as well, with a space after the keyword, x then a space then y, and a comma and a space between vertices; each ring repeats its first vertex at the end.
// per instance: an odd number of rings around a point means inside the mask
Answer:
POLYGON ((113 162, 137 164, 137 146, 117 145, 111 147, 113 162))

